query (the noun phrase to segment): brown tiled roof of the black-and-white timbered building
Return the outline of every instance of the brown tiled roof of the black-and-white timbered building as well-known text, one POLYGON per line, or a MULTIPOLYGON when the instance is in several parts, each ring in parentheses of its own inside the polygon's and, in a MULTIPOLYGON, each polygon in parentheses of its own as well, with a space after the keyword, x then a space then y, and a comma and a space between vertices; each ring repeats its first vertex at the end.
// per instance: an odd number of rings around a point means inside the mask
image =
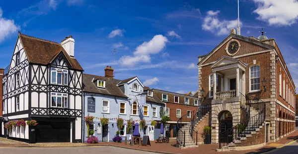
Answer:
POLYGON ((63 52, 72 69, 83 70, 77 60, 70 57, 61 44, 45 39, 33 38, 19 33, 29 63, 48 65, 63 52))

